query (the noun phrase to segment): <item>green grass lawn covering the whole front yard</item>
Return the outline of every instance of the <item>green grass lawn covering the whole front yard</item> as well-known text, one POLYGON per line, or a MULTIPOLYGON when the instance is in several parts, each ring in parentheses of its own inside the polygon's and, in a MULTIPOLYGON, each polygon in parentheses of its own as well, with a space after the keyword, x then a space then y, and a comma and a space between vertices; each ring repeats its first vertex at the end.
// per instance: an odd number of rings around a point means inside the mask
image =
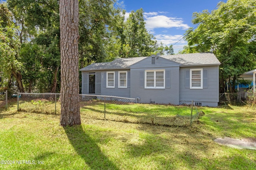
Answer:
POLYGON ((255 108, 198 107, 205 116, 192 127, 166 127, 157 123, 177 114, 190 115, 191 108, 108 104, 104 119, 102 106, 81 107, 82 125, 65 128, 59 125, 59 112, 33 112, 25 106, 17 112, 15 104, 8 110, 0 108, 0 160, 5 160, 0 169, 256 169, 255 150, 213 141, 217 137, 256 139, 255 108), (152 117, 154 125, 150 125, 152 117))

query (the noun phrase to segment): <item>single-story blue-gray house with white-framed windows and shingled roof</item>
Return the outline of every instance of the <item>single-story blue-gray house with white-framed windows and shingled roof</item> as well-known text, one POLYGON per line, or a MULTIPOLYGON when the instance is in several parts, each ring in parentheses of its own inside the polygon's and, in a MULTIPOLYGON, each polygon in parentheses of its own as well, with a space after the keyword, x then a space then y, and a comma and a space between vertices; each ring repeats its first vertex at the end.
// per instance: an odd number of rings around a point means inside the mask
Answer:
POLYGON ((138 98, 141 103, 218 106, 219 65, 213 53, 152 55, 93 63, 82 94, 138 98))

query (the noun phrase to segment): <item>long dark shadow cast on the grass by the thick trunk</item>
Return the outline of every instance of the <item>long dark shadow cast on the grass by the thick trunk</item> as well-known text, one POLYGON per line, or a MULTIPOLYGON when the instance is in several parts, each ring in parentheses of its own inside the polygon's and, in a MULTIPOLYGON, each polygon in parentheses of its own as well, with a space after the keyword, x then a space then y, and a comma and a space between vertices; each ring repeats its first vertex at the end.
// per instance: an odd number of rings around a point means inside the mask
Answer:
POLYGON ((77 154, 84 162, 94 169, 118 170, 114 162, 102 153, 97 143, 84 131, 82 125, 64 127, 66 135, 77 154))

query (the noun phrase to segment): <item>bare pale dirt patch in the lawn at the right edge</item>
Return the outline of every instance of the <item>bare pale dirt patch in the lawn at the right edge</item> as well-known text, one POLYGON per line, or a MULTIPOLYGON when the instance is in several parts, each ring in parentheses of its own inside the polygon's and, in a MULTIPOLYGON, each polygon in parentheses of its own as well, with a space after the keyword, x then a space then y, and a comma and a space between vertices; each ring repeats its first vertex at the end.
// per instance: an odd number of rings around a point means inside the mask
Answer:
POLYGON ((245 139, 234 139, 230 137, 214 139, 220 145, 226 145, 237 149, 252 149, 256 150, 256 139, 245 138, 245 139))

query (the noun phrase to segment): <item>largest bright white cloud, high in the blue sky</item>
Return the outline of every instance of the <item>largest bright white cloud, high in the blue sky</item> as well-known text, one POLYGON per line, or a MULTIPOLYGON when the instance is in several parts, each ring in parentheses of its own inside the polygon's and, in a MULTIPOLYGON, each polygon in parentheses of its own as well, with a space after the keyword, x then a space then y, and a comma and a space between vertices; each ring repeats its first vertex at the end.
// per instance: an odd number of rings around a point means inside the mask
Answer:
POLYGON ((163 15, 145 17, 146 28, 153 30, 155 28, 172 28, 177 27, 181 29, 188 29, 189 26, 183 23, 181 18, 167 17, 163 15))

